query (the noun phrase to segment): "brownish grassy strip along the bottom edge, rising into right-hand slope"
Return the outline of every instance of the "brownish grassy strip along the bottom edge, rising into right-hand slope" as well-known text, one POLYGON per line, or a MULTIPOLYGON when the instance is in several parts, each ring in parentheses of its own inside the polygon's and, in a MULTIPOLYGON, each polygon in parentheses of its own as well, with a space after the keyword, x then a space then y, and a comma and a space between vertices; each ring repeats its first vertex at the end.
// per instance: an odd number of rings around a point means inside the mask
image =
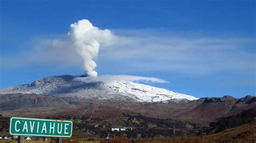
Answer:
MULTIPOLYGON (((91 138, 93 139, 93 138, 91 138)), ((110 140, 95 140, 89 141, 88 138, 83 139, 64 139, 63 143, 84 143, 84 142, 200 142, 200 136, 194 137, 186 137, 186 138, 176 138, 173 140, 172 138, 154 138, 154 139, 128 139, 128 138, 110 138, 110 140)), ((11 140, 0 140, 0 143, 17 143, 17 141, 11 140)), ((25 143, 53 143, 54 140, 51 141, 25 141, 25 143)), ((256 142, 256 121, 253 121, 250 124, 241 125, 239 127, 230 128, 223 132, 219 132, 216 134, 203 136, 203 142, 256 142)))

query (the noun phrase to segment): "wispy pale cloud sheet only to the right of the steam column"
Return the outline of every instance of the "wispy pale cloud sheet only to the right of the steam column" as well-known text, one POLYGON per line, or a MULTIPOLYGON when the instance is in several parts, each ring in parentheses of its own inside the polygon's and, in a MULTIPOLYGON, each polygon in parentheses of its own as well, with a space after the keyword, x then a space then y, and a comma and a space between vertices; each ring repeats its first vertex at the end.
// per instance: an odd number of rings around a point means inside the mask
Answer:
POLYGON ((122 61, 124 70, 113 69, 121 73, 127 70, 174 71, 186 74, 219 71, 248 73, 255 68, 255 41, 251 38, 207 37, 199 34, 174 36, 165 32, 146 32, 146 35, 140 35, 138 33, 145 31, 133 32, 134 34, 129 32, 128 37, 119 37, 121 44, 118 46, 102 49, 99 52, 99 62, 104 61, 104 64, 99 65, 122 65, 118 62, 122 61))

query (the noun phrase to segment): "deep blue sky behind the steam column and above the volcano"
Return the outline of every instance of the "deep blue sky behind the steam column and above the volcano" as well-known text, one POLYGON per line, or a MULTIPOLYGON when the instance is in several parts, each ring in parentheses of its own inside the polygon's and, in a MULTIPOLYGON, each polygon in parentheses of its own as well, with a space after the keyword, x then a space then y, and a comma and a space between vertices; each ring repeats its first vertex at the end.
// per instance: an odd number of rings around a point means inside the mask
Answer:
POLYGON ((99 75, 157 77, 170 83, 152 85, 196 97, 255 95, 255 1, 0 2, 1 89, 83 74, 70 53, 48 49, 88 19, 124 39, 100 49, 99 75))

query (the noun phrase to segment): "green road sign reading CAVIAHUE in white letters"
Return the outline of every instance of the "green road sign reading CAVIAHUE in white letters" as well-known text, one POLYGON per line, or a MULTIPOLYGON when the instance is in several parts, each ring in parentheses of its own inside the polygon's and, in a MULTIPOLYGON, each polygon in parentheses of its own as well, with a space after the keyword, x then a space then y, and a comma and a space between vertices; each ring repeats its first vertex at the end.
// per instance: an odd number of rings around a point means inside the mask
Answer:
POLYGON ((11 135, 71 137, 72 121, 12 117, 11 135))

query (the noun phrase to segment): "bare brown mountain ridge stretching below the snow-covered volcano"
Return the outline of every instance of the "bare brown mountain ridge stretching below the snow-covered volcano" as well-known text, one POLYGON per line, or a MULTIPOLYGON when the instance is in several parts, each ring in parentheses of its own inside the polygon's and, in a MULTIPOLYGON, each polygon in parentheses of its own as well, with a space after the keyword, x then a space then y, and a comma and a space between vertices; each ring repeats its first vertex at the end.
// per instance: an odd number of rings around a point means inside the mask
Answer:
POLYGON ((55 97, 35 94, 0 94, 0 114, 38 118, 56 115, 91 116, 94 110, 94 117, 110 115, 116 117, 123 112, 134 112, 153 118, 169 118, 207 124, 220 117, 256 108, 255 98, 254 96, 242 98, 211 97, 194 101, 163 103, 134 102, 132 98, 118 97, 85 99, 83 97, 55 97), (209 99, 214 99, 217 102, 207 102, 209 99))

